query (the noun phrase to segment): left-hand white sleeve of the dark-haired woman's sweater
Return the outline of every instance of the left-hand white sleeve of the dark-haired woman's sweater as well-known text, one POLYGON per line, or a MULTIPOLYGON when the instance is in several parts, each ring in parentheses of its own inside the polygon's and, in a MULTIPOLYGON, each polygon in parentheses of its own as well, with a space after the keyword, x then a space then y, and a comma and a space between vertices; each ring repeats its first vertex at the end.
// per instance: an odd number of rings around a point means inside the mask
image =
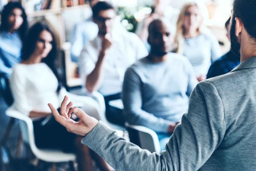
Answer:
POLYGON ((14 98, 13 107, 26 116, 32 111, 32 107, 29 106, 26 95, 26 78, 24 77, 23 70, 20 70, 17 66, 13 68, 10 76, 10 87, 14 98))

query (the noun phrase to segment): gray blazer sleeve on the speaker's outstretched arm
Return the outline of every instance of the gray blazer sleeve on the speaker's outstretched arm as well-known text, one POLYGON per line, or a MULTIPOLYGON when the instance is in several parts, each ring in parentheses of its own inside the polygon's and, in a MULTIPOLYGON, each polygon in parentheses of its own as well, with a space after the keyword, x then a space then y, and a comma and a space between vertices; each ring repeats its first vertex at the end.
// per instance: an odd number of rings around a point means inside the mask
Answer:
POLYGON ((99 124, 82 140, 113 168, 120 171, 198 170, 221 143, 226 129, 224 107, 216 88, 207 81, 199 83, 183 115, 161 154, 150 153, 126 142, 99 124))

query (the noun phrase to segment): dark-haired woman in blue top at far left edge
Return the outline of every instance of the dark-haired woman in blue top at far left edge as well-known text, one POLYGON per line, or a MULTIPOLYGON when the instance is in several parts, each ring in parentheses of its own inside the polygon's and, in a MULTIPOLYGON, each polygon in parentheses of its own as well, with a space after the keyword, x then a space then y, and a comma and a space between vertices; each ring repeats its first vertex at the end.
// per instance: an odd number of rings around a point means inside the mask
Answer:
POLYGON ((7 78, 12 67, 20 62, 27 27, 26 13, 20 3, 10 2, 4 6, 0 25, 0 74, 7 78))

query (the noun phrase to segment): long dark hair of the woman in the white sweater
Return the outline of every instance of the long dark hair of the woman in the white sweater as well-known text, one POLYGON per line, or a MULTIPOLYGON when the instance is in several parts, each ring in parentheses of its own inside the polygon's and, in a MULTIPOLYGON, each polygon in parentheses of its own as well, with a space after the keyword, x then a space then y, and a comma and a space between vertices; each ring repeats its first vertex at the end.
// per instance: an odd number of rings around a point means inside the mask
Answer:
POLYGON ((47 57, 42 59, 42 62, 44 62, 45 64, 48 65, 49 68, 51 68, 52 72, 58 79, 58 83, 60 86, 61 77, 57 72, 57 66, 56 66, 56 59, 58 56, 57 43, 56 43, 56 39, 52 29, 49 28, 49 26, 46 23, 37 22, 34 25, 32 25, 32 27, 29 29, 25 37, 25 42, 23 44, 21 60, 26 61, 31 57, 32 53, 35 51, 36 43, 42 31, 48 31, 52 35, 52 50, 49 52, 47 57))

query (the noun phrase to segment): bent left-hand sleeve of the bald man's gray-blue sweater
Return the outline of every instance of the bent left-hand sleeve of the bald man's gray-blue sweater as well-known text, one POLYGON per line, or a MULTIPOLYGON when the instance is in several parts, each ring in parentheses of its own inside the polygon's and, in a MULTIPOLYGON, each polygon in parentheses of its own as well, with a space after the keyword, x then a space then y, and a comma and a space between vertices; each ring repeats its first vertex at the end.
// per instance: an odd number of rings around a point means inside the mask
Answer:
POLYGON ((141 80, 131 68, 125 72, 122 101, 126 120, 134 125, 146 126, 156 132, 167 132, 171 121, 157 118, 142 109, 141 80))

